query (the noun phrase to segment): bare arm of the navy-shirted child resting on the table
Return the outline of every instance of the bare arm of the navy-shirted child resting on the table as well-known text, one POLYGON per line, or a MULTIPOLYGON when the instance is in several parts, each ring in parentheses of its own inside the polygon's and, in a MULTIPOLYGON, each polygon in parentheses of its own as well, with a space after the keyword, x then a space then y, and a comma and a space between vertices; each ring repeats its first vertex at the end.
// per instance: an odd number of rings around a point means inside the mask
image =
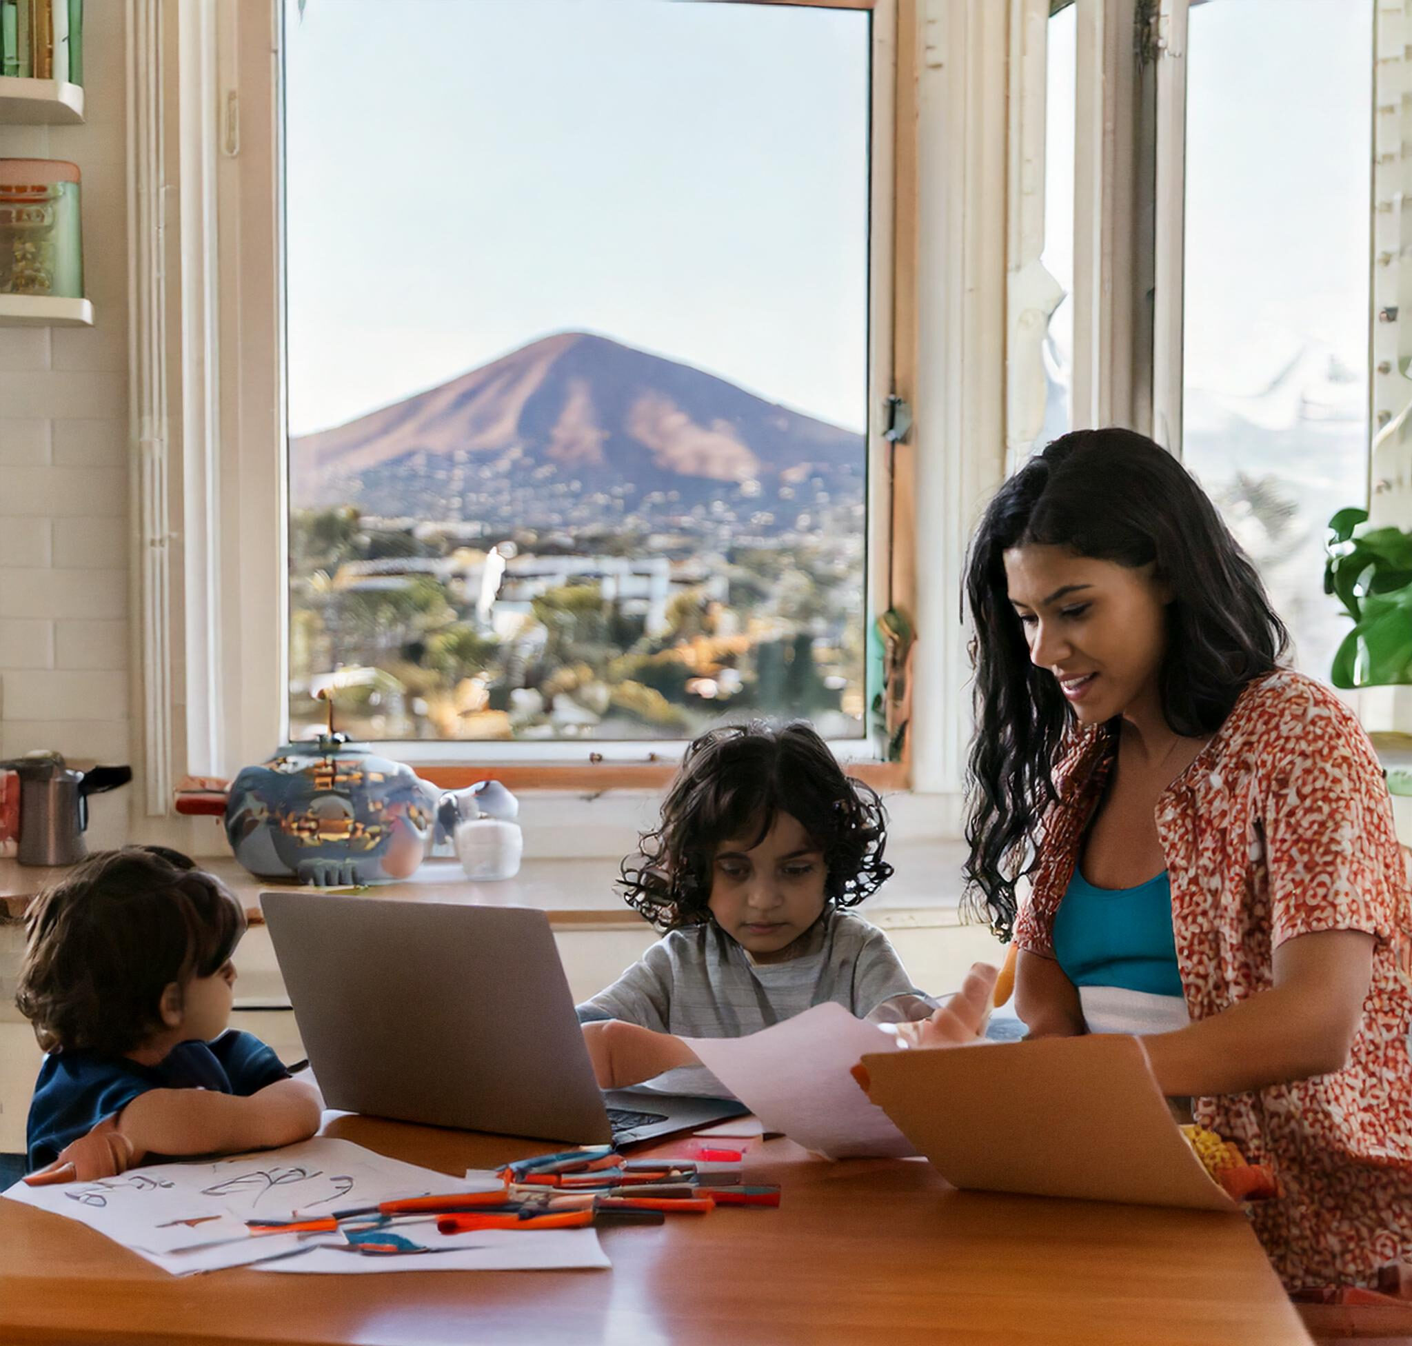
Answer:
POLYGON ((319 1128, 321 1099, 304 1080, 281 1079, 246 1097, 206 1089, 151 1089, 116 1117, 104 1117, 27 1179, 88 1182, 110 1178, 148 1154, 234 1154, 308 1140, 319 1128))

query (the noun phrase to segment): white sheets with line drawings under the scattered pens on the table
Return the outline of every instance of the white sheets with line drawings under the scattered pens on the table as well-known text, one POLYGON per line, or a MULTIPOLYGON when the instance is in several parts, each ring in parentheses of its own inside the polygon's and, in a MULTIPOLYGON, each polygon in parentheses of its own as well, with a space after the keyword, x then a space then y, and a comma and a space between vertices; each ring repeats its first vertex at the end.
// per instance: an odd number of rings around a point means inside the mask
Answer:
MULTIPOLYGON (((498 1185, 498 1181, 493 1185, 498 1185)), ((316 1219, 335 1210, 373 1206, 405 1196, 449 1195, 484 1188, 484 1182, 449 1178, 428 1168, 385 1158, 346 1140, 321 1137, 282 1150, 263 1150, 234 1158, 154 1164, 93 1182, 38 1188, 17 1182, 4 1196, 88 1225, 164 1271, 185 1275, 275 1258, 288 1258, 289 1270, 295 1270, 292 1263, 321 1244, 345 1243, 339 1233, 253 1236, 246 1226, 247 1220, 281 1220, 295 1215, 316 1219)), ((433 1230, 435 1225, 414 1226, 422 1227, 433 1230)), ((522 1237, 528 1241, 531 1236, 522 1237)), ((596 1243, 594 1239, 593 1251, 596 1243)), ((525 1264, 542 1265, 545 1251, 532 1251, 525 1264)), ((361 1270, 356 1264, 371 1260, 370 1254, 337 1256, 353 1264, 349 1270, 361 1270)), ((470 1247, 462 1243, 457 1257, 472 1256, 470 1247)), ((563 1256, 573 1260, 559 1265, 606 1265, 606 1261, 579 1260, 586 1254, 572 1246, 565 1249, 563 1256)), ((597 1256, 602 1258, 602 1253, 597 1256)), ((395 1258, 400 1264, 395 1270, 414 1270, 414 1264, 441 1260, 452 1261, 449 1256, 431 1257, 422 1253, 395 1258)), ((381 1254, 378 1261, 388 1263, 387 1270, 394 1270, 394 1258, 381 1254)), ((501 1268, 504 1261, 491 1260, 490 1265, 501 1268)))

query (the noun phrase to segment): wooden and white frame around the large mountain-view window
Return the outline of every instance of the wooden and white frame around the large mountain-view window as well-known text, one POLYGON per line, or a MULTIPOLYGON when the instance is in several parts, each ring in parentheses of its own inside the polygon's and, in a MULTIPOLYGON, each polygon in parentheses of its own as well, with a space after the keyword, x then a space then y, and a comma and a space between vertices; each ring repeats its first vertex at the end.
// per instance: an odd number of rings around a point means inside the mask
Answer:
MULTIPOLYGON (((165 326, 169 452, 167 507, 144 508, 137 535, 143 548, 176 545, 169 588, 141 588, 133 627, 134 636, 150 626, 168 636, 169 693, 161 671, 141 669, 144 693, 152 691, 143 713, 165 720, 155 727, 168 746, 164 760, 140 766, 171 781, 263 760, 278 737, 271 708, 285 695, 280 212, 274 155, 258 153, 278 129, 277 10, 274 0, 141 3, 160 16, 152 42, 167 130, 165 150, 141 144, 134 154, 155 155, 162 168, 165 219, 158 256, 167 306, 141 321, 165 326)), ((957 596, 970 531, 1005 472, 1010 6, 810 3, 871 8, 884 18, 878 31, 891 30, 894 96, 875 112, 894 127, 892 167, 873 206, 891 210, 882 229, 875 215, 874 244, 891 247, 894 284, 873 339, 891 345, 887 391, 914 412, 911 432, 873 455, 878 476, 870 477, 890 487, 878 493, 890 510, 887 532, 877 534, 888 545, 873 548, 887 595, 877 610, 902 609, 918 631, 907 750, 901 763, 850 768, 877 788, 921 797, 915 808, 894 801, 908 833, 953 836, 971 730, 957 596)), ((874 155, 875 174, 878 164, 874 155)), ((880 306, 877 295, 874 287, 880 306)), ((664 747, 642 744, 658 754, 647 763, 418 766, 448 785, 497 775, 515 788, 558 791, 565 804, 575 795, 599 801, 597 812, 610 792, 626 801, 623 791, 659 788, 672 771, 664 747)), ((148 814, 169 814, 165 791, 150 794, 148 814)))

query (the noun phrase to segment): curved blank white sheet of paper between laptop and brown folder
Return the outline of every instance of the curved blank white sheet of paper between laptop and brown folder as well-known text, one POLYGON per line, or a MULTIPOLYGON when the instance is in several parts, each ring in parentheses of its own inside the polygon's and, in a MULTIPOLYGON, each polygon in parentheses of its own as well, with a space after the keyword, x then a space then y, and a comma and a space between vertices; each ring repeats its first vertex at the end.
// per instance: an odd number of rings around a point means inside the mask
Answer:
POLYGON ((683 1041, 767 1131, 832 1160, 916 1153, 849 1073, 867 1052, 897 1051, 897 1037, 842 1004, 816 1004, 744 1038, 683 1041))

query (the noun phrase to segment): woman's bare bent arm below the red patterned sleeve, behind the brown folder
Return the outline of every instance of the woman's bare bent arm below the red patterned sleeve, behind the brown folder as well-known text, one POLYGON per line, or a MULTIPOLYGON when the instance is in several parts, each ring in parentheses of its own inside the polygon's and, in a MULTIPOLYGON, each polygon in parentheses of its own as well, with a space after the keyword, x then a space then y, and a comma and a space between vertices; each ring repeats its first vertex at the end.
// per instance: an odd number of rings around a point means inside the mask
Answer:
POLYGON ((1142 1040, 1169 1097, 1245 1093, 1348 1061, 1372 983, 1372 935, 1317 931, 1275 949, 1275 984, 1176 1032, 1142 1040))

